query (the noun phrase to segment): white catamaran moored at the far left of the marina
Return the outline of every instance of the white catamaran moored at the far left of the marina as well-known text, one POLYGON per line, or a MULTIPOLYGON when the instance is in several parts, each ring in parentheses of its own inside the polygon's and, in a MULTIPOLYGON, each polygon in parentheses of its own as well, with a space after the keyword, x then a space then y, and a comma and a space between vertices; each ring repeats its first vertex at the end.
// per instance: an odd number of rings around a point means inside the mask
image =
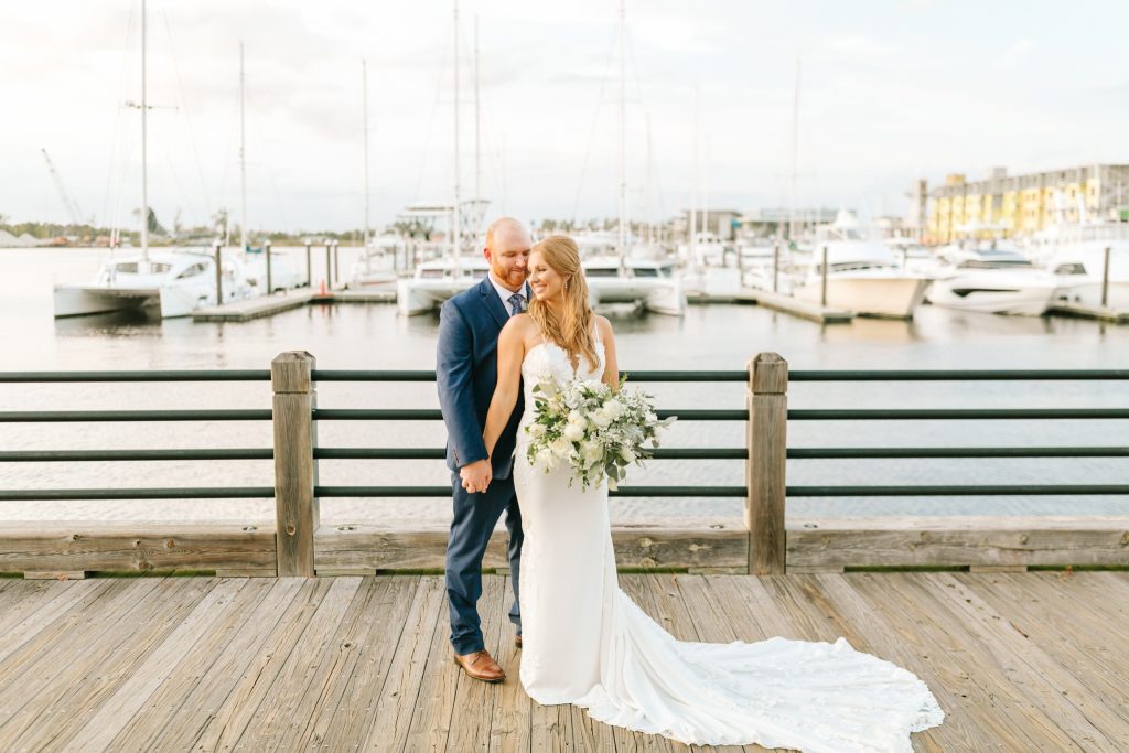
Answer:
MULTIPOLYGON (((222 256, 221 274, 222 303, 251 296, 243 264, 234 256, 222 256)), ((145 309, 167 318, 216 304, 216 259, 202 251, 111 259, 93 282, 54 289, 55 317, 145 309)))

